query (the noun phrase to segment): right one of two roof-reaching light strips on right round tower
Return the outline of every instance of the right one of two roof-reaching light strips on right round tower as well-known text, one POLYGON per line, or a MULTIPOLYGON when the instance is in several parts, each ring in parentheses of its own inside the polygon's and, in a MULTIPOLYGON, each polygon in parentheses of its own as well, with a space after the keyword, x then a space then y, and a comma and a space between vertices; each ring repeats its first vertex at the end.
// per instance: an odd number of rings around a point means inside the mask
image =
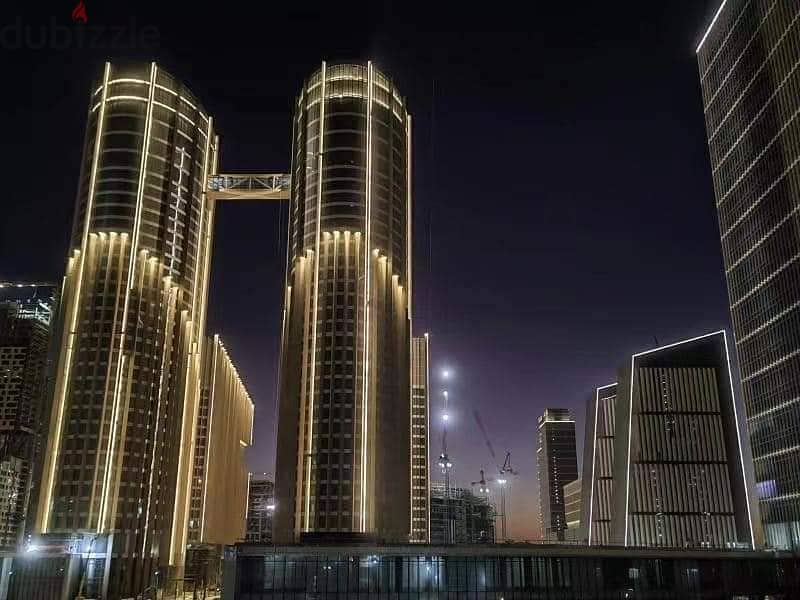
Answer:
POLYGON ((361 405, 361 531, 367 530, 367 418, 369 408, 369 304, 370 270, 372 266, 372 240, 370 237, 372 218, 372 61, 367 63, 367 178, 364 239, 364 375, 361 405))

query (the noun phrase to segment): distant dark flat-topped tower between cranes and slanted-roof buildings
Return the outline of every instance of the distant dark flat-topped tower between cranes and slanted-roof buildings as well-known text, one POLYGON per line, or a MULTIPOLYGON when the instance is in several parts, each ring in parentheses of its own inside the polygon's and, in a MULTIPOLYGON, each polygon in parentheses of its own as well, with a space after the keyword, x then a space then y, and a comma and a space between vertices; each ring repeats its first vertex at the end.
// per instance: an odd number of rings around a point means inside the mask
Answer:
POLYGON ((578 478, 575 420, 569 410, 546 408, 539 417, 539 518, 542 536, 564 539, 564 486, 578 478))

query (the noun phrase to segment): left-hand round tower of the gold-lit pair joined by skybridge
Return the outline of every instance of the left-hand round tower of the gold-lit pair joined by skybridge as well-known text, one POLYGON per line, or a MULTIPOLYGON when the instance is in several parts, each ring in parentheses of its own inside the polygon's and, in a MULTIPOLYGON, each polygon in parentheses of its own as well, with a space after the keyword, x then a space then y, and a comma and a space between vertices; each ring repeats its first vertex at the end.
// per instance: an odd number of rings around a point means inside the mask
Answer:
POLYGON ((212 120, 184 85, 155 64, 105 65, 89 104, 36 529, 109 544, 126 561, 108 566, 109 597, 183 561, 216 155, 212 120))

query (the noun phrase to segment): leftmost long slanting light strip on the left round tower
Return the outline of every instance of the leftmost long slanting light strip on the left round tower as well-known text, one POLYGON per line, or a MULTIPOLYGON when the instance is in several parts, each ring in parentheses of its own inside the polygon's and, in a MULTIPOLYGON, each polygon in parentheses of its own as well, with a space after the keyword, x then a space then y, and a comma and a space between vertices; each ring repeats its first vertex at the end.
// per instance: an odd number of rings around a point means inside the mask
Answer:
MULTIPOLYGON (((108 77, 111 72, 111 63, 106 63, 103 69, 103 85, 101 86, 102 95, 100 98, 100 114, 97 117, 94 148, 92 149, 92 171, 89 175, 89 190, 86 195, 86 212, 84 214, 83 236, 81 238, 80 259, 75 286, 72 291, 72 302, 70 306, 70 316, 68 317, 69 329, 65 332, 64 342, 61 346, 61 356, 64 357, 61 372, 58 374, 59 385, 57 387, 56 400, 56 427, 53 435, 50 436, 52 451, 48 453, 47 460, 49 465, 45 468, 45 476, 42 481, 44 493, 40 501, 38 529, 42 533, 49 530, 50 502, 53 498, 53 486, 55 485, 56 465, 58 464, 58 452, 61 447, 61 432, 64 421, 64 404, 67 400, 67 387, 69 386, 69 374, 72 365, 73 341, 78 325, 78 306, 81 298, 81 287, 83 285, 83 270, 86 264, 86 252, 89 244, 89 229, 92 220, 92 210, 94 204, 95 186, 97 183, 97 165, 100 160, 100 144, 103 137, 103 125, 105 122, 106 99, 108 97, 108 77)), ((66 278, 65 278, 66 281, 66 278)), ((66 283, 65 287, 66 289, 66 283)))

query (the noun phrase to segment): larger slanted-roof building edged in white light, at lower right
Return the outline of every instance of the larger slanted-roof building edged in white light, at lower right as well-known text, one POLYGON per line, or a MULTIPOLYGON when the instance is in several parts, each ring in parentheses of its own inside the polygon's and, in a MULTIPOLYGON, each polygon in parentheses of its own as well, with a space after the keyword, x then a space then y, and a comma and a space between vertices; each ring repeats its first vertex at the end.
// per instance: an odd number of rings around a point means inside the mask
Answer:
POLYGON ((634 354, 613 412, 612 543, 752 545, 724 331, 634 354))

